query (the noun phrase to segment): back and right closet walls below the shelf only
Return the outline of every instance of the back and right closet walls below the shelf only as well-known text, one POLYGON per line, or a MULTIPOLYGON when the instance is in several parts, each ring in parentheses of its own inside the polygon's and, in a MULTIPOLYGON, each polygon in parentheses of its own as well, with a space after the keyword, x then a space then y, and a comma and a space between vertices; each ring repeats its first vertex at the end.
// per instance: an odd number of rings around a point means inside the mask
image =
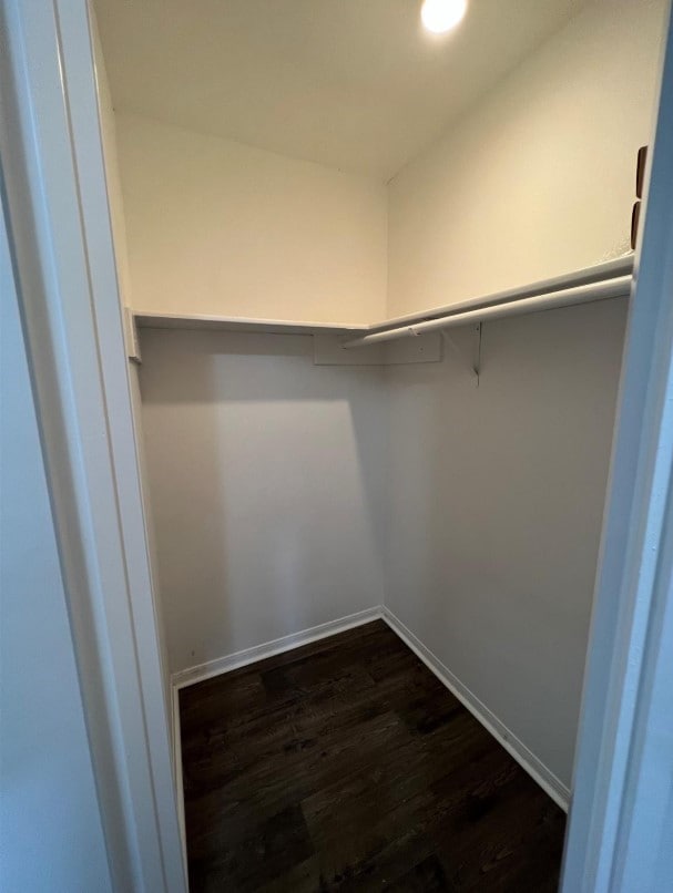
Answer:
POLYGON ((489 324, 478 389, 450 350, 145 330, 171 670, 385 601, 569 786, 625 310, 489 324))

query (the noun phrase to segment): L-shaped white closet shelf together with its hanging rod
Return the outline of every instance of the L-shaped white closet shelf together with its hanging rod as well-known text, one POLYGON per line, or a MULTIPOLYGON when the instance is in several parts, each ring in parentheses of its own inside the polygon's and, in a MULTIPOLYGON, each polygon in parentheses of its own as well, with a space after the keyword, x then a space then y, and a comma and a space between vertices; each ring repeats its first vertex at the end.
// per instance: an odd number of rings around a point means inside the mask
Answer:
POLYGON ((604 264, 595 264, 561 276, 541 279, 530 285, 510 288, 477 298, 407 316, 385 319, 371 325, 303 322, 288 319, 255 319, 236 316, 205 316, 201 314, 155 314, 134 310, 133 319, 140 329, 211 329, 273 335, 330 335, 350 336, 345 347, 364 347, 378 341, 395 340, 405 335, 419 335, 425 330, 449 328, 488 318, 498 318, 511 311, 527 312, 553 306, 569 306, 616 297, 626 294, 626 280, 633 271, 633 255, 629 254, 604 264), (608 285, 612 283, 614 287, 608 285), (618 287, 619 283, 619 287, 618 287), (563 301, 563 294, 568 299, 563 301), (545 298, 549 296, 549 299, 545 298), (544 299, 543 299, 544 298, 544 299), (478 312, 479 311, 479 312, 478 312), (487 312, 488 311, 488 312, 487 312))

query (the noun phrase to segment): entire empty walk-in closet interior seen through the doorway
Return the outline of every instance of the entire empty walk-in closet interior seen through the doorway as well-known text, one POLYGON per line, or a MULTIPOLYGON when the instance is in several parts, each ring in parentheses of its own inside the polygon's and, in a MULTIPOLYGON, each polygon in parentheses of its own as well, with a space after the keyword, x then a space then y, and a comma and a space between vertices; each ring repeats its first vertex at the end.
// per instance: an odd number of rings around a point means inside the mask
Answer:
POLYGON ((667 7, 92 3, 192 893, 557 889, 667 7))

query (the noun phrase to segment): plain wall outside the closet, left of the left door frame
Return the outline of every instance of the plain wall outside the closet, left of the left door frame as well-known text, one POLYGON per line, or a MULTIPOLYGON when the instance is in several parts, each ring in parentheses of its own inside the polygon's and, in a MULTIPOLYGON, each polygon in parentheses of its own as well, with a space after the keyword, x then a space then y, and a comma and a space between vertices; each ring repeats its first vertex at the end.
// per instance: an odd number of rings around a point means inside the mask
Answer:
POLYGON ((10 261, 0 256, 0 890, 112 890, 10 261))

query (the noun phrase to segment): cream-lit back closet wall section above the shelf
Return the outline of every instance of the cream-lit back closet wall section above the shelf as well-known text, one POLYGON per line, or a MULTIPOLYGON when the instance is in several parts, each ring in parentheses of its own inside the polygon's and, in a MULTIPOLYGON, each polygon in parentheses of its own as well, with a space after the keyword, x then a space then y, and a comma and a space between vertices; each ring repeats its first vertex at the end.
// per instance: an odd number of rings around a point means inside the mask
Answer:
POLYGON ((118 115, 133 306, 368 322, 386 305, 381 183, 118 115))

